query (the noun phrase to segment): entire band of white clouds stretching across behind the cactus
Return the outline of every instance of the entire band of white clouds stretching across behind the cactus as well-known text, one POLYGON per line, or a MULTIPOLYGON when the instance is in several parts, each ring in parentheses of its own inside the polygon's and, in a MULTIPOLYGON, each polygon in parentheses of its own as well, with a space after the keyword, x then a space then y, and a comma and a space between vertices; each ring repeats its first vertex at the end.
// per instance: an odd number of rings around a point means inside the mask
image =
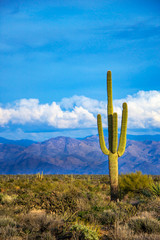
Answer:
MULTIPOLYGON (((128 103, 128 128, 160 128, 160 91, 139 91, 125 99, 114 100, 114 111, 118 113, 121 126, 122 103, 128 103)), ((107 102, 73 96, 61 102, 41 104, 38 99, 20 99, 0 107, 0 126, 46 125, 53 129, 96 128, 96 116, 102 115, 107 127, 107 102)))

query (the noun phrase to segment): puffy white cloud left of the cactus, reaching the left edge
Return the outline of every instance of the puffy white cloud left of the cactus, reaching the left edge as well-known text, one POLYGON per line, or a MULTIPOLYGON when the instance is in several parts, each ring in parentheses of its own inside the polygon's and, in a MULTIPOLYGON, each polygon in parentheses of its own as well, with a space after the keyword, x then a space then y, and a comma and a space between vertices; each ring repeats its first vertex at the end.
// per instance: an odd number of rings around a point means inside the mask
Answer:
POLYGON ((61 107, 52 102, 40 104, 38 99, 21 99, 12 107, 0 108, 0 124, 43 123, 54 128, 92 127, 96 118, 87 109, 75 106, 71 111, 62 111, 61 107))

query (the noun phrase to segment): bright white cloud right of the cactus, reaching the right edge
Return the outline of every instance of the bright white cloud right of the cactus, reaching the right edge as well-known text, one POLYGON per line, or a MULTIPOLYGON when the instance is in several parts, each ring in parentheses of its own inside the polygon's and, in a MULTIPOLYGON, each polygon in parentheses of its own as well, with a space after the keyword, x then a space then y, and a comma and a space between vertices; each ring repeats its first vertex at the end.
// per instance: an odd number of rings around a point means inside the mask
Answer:
MULTIPOLYGON (((128 128, 160 128, 160 91, 139 91, 124 99, 128 103, 128 128)), ((120 112, 122 101, 115 101, 120 112)))

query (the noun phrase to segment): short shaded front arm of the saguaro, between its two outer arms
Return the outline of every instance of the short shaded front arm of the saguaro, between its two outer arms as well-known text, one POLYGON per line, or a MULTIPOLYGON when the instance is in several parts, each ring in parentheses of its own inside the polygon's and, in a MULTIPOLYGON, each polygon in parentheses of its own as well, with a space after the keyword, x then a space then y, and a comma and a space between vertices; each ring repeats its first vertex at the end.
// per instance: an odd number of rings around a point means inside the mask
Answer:
POLYGON ((118 115, 113 113, 113 138, 112 138, 112 153, 117 152, 118 145, 118 115))

